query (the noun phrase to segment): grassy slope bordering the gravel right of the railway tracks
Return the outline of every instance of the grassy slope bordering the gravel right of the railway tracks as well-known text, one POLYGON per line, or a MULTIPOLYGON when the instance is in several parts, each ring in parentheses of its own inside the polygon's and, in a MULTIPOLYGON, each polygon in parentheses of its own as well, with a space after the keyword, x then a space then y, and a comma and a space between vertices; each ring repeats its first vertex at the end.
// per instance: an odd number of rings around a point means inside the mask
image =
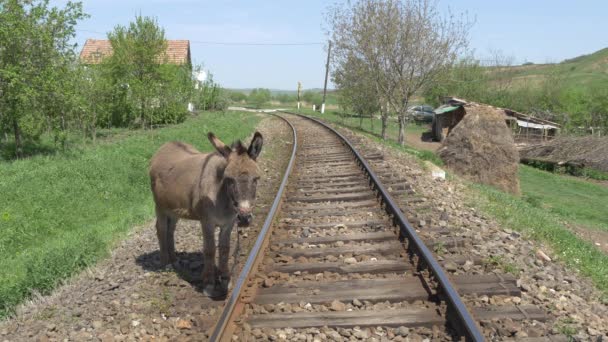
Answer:
MULTIPOLYGON (((321 117, 320 113, 314 115, 321 117)), ((342 124, 333 113, 322 118, 342 124)), ((370 136, 369 131, 363 132, 370 136)), ((416 151, 377 137, 376 140, 420 159, 441 163, 432 152, 416 151)), ((490 186, 469 184, 469 205, 481 209, 503 227, 523 232, 551 246, 559 260, 590 277, 608 300, 608 255, 576 236, 566 226, 570 223, 606 229, 608 188, 523 165, 519 176, 524 193, 521 198, 490 186)))

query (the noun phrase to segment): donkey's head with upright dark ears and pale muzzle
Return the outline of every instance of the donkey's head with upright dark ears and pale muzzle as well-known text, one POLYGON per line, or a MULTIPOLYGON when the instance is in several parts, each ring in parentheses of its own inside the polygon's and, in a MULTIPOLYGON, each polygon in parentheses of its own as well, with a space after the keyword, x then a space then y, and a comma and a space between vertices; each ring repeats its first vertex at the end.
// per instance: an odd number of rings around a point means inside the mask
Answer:
POLYGON ((251 211, 260 178, 256 159, 262 151, 264 141, 262 135, 255 132, 248 148, 240 141, 227 146, 211 132, 208 137, 211 144, 228 162, 224 170, 228 198, 237 213, 239 225, 248 226, 253 218, 251 211))

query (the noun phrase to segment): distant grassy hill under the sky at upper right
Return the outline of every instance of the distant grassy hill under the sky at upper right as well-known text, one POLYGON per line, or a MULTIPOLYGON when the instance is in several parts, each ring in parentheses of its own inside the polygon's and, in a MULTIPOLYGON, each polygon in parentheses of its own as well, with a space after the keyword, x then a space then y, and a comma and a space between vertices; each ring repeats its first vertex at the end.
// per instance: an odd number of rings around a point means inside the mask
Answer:
POLYGON ((550 77, 559 77, 568 87, 607 87, 608 48, 560 63, 525 64, 496 70, 508 72, 516 84, 534 85, 550 77))

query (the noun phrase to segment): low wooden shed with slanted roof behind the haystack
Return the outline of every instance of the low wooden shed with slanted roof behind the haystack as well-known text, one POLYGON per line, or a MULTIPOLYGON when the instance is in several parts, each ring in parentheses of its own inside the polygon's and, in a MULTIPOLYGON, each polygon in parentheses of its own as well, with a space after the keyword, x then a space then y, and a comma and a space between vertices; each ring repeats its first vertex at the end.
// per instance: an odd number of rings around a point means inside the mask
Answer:
POLYGON ((498 111, 505 117, 505 124, 511 128, 513 138, 518 143, 533 143, 553 139, 561 126, 555 122, 535 118, 511 109, 494 107, 486 104, 466 101, 455 97, 447 97, 443 105, 435 109, 432 124, 433 138, 442 141, 451 130, 462 120, 467 108, 484 107, 486 111, 498 111))

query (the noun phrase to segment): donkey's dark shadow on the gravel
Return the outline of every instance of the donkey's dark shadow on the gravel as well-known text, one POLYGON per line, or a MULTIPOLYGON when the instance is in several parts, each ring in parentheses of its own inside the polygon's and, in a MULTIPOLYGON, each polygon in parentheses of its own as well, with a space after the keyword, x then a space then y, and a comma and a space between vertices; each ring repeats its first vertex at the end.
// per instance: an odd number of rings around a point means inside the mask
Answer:
MULTIPOLYGON (((151 272, 173 272, 181 279, 187 281, 196 291, 203 292, 203 253, 202 252, 177 252, 177 261, 171 265, 162 267, 160 265, 160 252, 144 253, 135 259, 136 263, 146 271, 151 272)), ((224 298, 213 298, 222 300, 224 298)))

